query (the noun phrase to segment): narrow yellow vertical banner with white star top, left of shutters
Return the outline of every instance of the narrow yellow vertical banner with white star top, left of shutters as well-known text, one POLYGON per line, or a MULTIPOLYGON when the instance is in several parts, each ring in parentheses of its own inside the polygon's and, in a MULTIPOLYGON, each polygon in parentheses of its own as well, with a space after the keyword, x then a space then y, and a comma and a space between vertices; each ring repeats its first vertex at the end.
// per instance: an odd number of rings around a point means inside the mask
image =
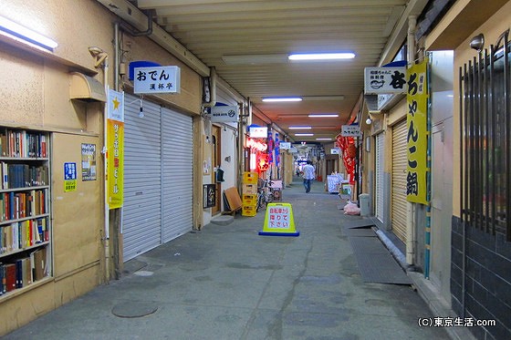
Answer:
POLYGON ((107 180, 109 209, 122 207, 124 195, 124 93, 109 89, 107 180))

